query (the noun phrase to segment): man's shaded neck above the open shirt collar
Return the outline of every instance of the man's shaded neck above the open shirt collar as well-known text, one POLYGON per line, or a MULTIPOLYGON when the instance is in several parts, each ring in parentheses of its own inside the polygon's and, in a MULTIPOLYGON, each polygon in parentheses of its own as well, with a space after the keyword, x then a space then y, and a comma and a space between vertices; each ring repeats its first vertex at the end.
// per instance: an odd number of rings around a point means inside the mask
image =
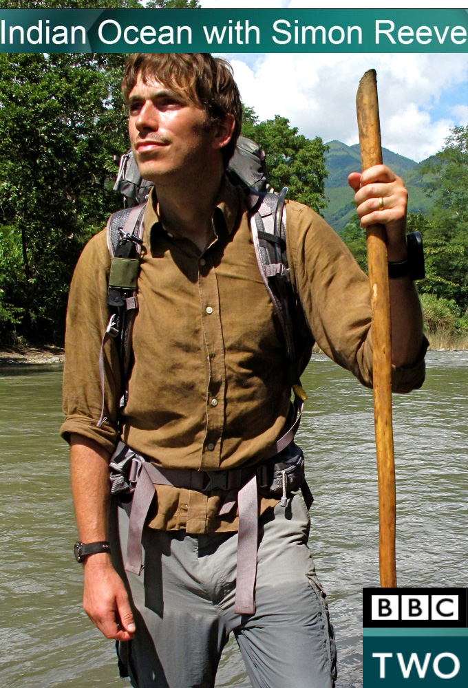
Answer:
POLYGON ((190 239, 204 250, 213 238, 213 211, 222 170, 202 178, 156 182, 159 215, 170 234, 190 239))

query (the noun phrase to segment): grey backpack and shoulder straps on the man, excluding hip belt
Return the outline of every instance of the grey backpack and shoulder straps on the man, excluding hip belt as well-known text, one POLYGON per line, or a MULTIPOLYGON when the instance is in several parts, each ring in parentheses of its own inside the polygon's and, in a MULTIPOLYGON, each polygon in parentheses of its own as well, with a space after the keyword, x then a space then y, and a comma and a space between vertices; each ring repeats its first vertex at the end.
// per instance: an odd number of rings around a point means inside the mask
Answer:
MULTIPOLYGON (((286 255, 286 213, 284 204, 288 188, 277 194, 268 186, 265 172, 265 155, 252 140, 240 136, 233 158, 226 169, 228 178, 242 186, 246 192, 246 204, 255 255, 266 290, 284 335, 288 380, 295 393, 297 426, 306 393, 301 387, 300 374, 310 358, 310 348, 297 355, 295 346, 295 314, 297 295, 292 287, 286 255)), ((142 180, 132 151, 120 160, 114 190, 124 197, 125 208, 113 213, 107 222, 107 246, 111 256, 111 270, 107 304, 109 323, 100 348, 99 371, 103 392, 98 427, 104 417, 104 365, 103 347, 107 338, 113 337, 118 346, 120 374, 123 380, 120 409, 127 403, 128 378, 131 368, 131 330, 138 310, 138 269, 142 245, 143 216, 152 182, 142 180)), ((297 428, 296 428, 297 429, 297 428)))

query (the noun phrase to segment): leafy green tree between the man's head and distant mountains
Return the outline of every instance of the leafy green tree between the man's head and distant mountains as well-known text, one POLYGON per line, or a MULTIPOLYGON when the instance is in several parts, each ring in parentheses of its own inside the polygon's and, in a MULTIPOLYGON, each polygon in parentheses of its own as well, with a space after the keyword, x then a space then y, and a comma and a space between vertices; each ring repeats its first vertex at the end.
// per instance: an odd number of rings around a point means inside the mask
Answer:
POLYGON ((242 135, 252 138, 266 153, 266 177, 275 191, 288 186, 288 197, 319 213, 326 208, 323 182, 328 148, 321 138, 310 140, 290 127, 286 117, 259 122, 253 108, 244 106, 242 135))

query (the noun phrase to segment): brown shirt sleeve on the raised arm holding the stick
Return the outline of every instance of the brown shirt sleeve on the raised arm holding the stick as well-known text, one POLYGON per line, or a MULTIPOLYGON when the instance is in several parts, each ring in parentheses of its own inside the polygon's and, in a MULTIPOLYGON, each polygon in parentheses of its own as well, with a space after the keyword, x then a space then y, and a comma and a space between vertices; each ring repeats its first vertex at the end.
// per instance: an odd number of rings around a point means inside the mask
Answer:
MULTIPOLYGON (((287 205, 288 256, 304 314, 317 345, 332 361, 372 387, 369 279, 337 233, 317 213, 287 205)), ((421 387, 424 355, 411 367, 392 366, 392 391, 421 387)))

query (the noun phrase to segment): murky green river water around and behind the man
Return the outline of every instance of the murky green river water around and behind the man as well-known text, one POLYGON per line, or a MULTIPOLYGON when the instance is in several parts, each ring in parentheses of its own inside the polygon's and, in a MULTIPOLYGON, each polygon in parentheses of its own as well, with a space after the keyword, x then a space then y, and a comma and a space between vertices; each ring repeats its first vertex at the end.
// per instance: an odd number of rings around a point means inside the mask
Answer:
MULTIPOLYGON (((325 356, 313 356, 303 382, 310 547, 337 634, 337 687, 359 688, 361 588, 379 586, 372 392, 325 356)), ((423 389, 394 396, 400 586, 468 585, 467 419, 468 352, 429 352, 423 389)), ((60 424, 59 367, 0 369, 1 685, 124 686, 112 643, 81 610, 60 424)), ((231 641, 216 685, 250 687, 231 641)))

